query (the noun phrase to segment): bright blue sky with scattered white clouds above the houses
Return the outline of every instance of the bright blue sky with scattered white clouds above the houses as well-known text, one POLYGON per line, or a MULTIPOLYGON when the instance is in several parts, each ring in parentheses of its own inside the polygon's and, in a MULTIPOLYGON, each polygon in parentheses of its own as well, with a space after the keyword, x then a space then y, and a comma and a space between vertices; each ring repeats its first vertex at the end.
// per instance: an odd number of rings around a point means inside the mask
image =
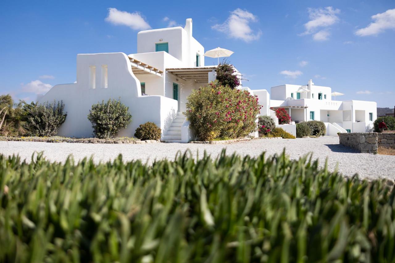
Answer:
POLYGON ((186 18, 205 50, 235 52, 229 60, 244 86, 270 91, 313 79, 344 93, 338 100, 395 105, 393 0, 2 1, 0 94, 35 100, 75 81, 78 53, 136 53, 139 30, 186 18))

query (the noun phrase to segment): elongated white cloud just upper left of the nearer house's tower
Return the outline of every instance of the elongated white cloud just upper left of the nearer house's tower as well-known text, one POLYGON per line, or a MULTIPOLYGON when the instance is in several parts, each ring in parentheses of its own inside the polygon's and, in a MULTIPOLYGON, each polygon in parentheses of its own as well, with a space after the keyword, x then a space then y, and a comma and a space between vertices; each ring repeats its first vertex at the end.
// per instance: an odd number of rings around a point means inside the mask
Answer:
POLYGON ((143 15, 137 11, 128 13, 119 11, 117 8, 109 8, 108 15, 104 20, 115 25, 129 26, 133 30, 147 30, 151 28, 143 15))

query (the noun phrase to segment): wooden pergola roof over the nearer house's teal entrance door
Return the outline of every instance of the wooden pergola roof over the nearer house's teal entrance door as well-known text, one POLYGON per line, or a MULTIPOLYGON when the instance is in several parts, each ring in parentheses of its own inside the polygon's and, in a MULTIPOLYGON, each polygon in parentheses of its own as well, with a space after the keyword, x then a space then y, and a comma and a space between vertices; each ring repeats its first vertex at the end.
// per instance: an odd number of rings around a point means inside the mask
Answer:
POLYGON ((217 66, 205 66, 196 68, 167 68, 166 73, 170 73, 184 81, 192 80, 195 82, 208 83, 209 72, 215 71, 217 66))

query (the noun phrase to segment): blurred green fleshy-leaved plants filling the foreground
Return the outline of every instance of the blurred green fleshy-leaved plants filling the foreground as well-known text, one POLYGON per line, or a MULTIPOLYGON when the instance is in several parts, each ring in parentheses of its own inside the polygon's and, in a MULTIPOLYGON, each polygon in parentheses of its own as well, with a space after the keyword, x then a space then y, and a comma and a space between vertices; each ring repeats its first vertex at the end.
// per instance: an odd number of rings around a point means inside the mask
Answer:
POLYGON ((393 186, 309 156, 0 163, 0 262, 394 258, 393 186))

